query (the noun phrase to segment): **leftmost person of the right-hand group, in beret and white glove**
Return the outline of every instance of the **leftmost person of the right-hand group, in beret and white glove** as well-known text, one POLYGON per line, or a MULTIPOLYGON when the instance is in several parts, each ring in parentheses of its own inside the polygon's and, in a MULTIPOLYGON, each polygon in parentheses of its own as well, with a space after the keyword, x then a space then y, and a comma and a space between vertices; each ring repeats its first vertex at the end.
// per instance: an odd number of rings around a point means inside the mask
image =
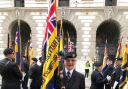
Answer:
POLYGON ((104 89, 104 84, 108 82, 111 77, 107 76, 106 78, 103 77, 102 74, 102 63, 96 62, 95 70, 91 74, 91 87, 90 89, 104 89))

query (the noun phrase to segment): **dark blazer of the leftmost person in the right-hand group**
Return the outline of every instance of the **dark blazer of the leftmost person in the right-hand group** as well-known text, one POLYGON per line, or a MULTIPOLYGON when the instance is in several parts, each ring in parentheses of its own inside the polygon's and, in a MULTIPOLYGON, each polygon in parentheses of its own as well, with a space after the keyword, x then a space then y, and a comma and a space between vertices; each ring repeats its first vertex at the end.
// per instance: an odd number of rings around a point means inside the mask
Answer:
POLYGON ((104 84, 107 79, 96 69, 91 75, 91 87, 90 89, 104 89, 104 84))

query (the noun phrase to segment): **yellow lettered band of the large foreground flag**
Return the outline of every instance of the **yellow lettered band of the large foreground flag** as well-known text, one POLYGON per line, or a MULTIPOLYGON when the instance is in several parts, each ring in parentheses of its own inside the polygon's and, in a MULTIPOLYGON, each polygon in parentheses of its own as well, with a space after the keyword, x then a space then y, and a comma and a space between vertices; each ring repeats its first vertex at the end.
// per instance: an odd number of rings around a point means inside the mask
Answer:
POLYGON ((43 66, 43 87, 46 89, 48 82, 54 76, 54 71, 58 67, 57 53, 58 53, 58 38, 57 38, 57 29, 55 29, 50 38, 48 39, 48 49, 46 52, 46 59, 43 66))

